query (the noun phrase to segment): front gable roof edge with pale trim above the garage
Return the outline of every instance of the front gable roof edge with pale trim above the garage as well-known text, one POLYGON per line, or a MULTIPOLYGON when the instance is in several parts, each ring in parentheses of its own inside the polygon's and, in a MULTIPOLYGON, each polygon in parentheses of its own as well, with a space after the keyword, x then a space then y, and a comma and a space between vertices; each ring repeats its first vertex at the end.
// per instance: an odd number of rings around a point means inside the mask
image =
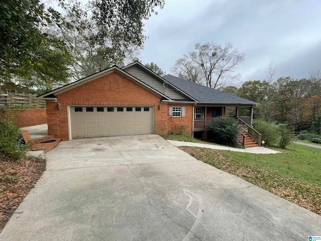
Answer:
POLYGON ((119 73, 120 75, 124 76, 125 78, 133 81, 134 83, 138 84, 139 86, 143 87, 144 89, 156 94, 157 96, 160 96, 160 97, 163 97, 167 100, 171 100, 171 98, 169 98, 168 96, 166 96, 165 94, 157 91, 156 89, 150 87, 149 85, 145 84, 144 82, 140 81, 139 79, 137 79, 136 77, 130 75, 129 73, 123 71, 122 69, 120 69, 118 66, 114 65, 114 66, 111 66, 110 68, 107 68, 105 70, 102 70, 98 73, 95 73, 95 74, 92 74, 92 75, 89 75, 85 78, 82 78, 82 79, 79 79, 75 82, 72 82, 70 84, 66 84, 62 87, 59 87, 59 88, 56 88, 54 90, 51 90, 47 93, 44 93, 44 94, 41 94, 38 96, 39 99, 44 99, 44 100, 49 100, 49 101, 54 101, 56 100, 56 95, 57 94, 61 94, 65 91, 68 91, 70 89, 73 89, 77 86, 80 86, 82 84, 85 84, 85 83, 88 83, 92 80, 95 80, 101 76, 104 76, 106 74, 109 74, 109 73, 112 73, 112 72, 117 72, 119 73))

